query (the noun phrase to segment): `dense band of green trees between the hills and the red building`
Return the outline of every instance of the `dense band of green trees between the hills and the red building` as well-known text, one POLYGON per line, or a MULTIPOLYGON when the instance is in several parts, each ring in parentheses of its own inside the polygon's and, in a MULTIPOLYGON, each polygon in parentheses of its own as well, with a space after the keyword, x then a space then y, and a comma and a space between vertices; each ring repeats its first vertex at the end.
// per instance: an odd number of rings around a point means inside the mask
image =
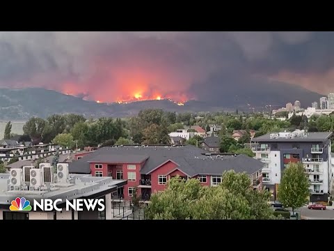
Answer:
MULTIPOLYGON (((54 142, 70 148, 84 146, 111 146, 113 144, 170 144, 169 132, 182 129, 184 126, 200 126, 210 130, 209 125, 221 128, 218 137, 221 139, 221 152, 244 153, 253 155, 244 144, 250 142, 250 130, 255 130, 255 137, 268 132, 283 130, 307 129, 309 131, 332 131, 334 116, 292 116, 280 121, 269 119, 263 114, 229 114, 225 112, 191 114, 184 112, 164 112, 161 109, 145 109, 137 116, 126 119, 86 119, 77 114, 54 114, 47 119, 31 118, 24 125, 24 135, 19 141, 54 142), (239 142, 232 139, 233 130, 246 130, 239 142)), ((6 137, 10 135, 10 122, 6 137)), ((198 145, 201 137, 193 137, 187 144, 198 145)))

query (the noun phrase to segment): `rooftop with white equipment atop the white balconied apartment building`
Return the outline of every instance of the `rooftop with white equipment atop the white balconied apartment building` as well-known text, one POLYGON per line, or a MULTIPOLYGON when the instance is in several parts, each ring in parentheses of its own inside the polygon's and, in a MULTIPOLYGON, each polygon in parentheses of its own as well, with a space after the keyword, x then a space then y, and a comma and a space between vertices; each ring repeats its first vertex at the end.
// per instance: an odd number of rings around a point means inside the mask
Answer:
POLYGON ((325 142, 333 135, 333 132, 294 132, 268 133, 252 139, 253 142, 325 142))

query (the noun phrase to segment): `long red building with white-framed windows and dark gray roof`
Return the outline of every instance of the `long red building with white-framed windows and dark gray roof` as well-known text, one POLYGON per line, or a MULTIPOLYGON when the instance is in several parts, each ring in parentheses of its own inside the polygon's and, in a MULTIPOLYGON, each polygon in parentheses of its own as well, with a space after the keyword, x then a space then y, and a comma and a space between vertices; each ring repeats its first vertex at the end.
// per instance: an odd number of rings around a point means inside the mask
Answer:
POLYGON ((218 185, 224 171, 246 172, 255 189, 262 189, 260 160, 246 155, 212 155, 195 146, 113 146, 103 147, 70 163, 72 174, 111 176, 125 179, 118 197, 134 194, 148 201, 152 192, 164 190, 174 176, 198 178, 202 185, 218 185))

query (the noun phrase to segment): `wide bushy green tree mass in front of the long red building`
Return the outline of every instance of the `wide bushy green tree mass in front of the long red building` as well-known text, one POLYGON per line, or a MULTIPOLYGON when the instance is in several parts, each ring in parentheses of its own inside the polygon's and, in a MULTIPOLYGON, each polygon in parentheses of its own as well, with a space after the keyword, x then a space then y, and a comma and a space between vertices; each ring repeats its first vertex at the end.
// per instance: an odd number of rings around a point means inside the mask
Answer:
POLYGON ((253 190, 247 174, 225 172, 217 187, 203 187, 195 178, 184 181, 177 176, 164 191, 151 196, 145 215, 159 220, 275 219, 268 200, 267 191, 253 190))

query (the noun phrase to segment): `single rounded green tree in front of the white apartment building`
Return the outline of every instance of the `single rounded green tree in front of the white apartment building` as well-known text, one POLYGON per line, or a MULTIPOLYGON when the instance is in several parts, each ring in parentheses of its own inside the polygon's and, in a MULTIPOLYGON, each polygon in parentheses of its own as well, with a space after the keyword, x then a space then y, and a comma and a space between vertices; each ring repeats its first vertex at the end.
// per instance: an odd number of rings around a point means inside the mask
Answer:
POLYGON ((296 208, 308 203, 309 188, 310 180, 303 164, 290 162, 278 185, 278 199, 284 206, 292 208, 294 213, 296 208))

